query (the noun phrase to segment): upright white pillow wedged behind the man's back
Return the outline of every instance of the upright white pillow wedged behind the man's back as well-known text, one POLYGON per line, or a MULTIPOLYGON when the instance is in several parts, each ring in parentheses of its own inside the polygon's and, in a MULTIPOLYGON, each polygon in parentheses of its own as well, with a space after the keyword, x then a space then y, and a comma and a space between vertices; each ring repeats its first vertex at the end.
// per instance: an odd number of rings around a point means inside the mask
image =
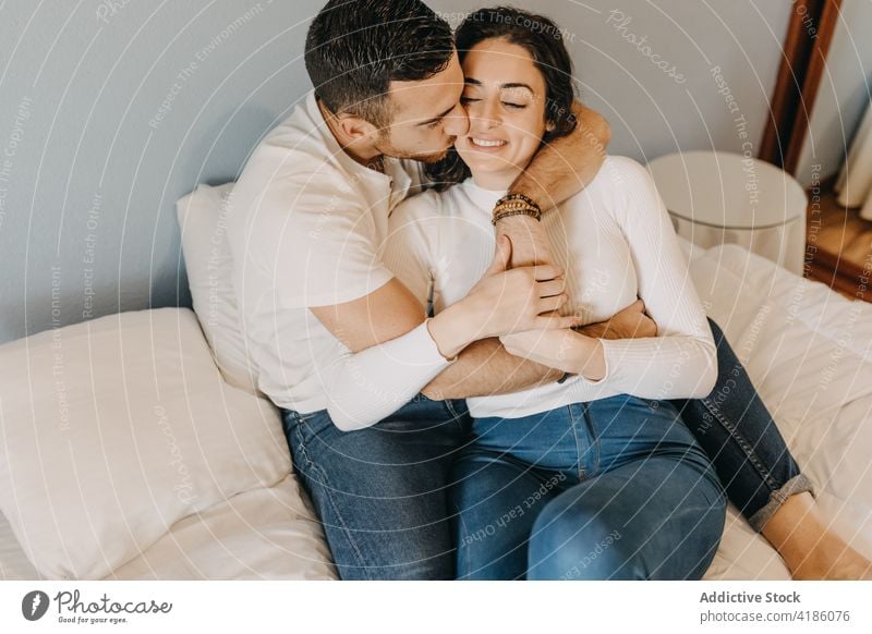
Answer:
POLYGON ((257 392, 257 373, 250 363, 233 292, 233 257, 227 239, 227 216, 234 183, 197 185, 175 203, 182 232, 184 265, 194 312, 225 380, 257 392))

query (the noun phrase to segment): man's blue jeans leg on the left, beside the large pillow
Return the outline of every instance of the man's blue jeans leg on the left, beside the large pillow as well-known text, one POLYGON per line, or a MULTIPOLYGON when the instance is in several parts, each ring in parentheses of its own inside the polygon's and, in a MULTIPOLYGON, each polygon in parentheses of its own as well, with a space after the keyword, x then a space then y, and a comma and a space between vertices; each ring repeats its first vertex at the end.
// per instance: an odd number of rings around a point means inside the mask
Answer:
POLYGON ((341 578, 455 578, 448 488, 470 431, 465 401, 419 395, 359 431, 326 411, 282 420, 341 578))

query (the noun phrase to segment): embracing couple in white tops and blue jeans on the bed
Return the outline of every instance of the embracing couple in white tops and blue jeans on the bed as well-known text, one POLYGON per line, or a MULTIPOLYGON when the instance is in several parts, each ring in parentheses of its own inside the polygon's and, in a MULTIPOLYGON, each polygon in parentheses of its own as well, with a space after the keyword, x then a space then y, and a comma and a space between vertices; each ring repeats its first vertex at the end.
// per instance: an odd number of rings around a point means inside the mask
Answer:
POLYGON ((864 573, 557 25, 331 0, 305 62, 228 234, 342 578, 700 578, 727 498, 796 577, 864 573))

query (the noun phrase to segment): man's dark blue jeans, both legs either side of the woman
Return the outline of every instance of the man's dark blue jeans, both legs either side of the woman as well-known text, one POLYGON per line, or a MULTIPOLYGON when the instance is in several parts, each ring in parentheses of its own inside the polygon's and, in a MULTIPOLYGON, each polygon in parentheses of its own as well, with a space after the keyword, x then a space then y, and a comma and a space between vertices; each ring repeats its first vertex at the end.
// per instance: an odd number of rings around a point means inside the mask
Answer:
MULTIPOLYGON (((719 328, 710 324, 717 385, 706 399, 674 404, 730 501, 760 529, 789 495, 811 487, 719 328)), ((448 491, 472 425, 463 401, 420 395, 378 425, 351 432, 337 429, 326 411, 284 410, 282 420, 342 578, 455 577, 448 491)))

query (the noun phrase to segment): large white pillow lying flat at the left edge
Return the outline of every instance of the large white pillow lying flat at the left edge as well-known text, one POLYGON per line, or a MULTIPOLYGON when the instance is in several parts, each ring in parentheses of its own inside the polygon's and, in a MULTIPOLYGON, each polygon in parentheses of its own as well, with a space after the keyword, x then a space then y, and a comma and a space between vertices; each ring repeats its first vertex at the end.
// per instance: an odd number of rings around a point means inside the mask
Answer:
POLYGON ((191 310, 0 346, 0 509, 47 577, 104 577, 290 471, 277 410, 221 379, 191 310))

